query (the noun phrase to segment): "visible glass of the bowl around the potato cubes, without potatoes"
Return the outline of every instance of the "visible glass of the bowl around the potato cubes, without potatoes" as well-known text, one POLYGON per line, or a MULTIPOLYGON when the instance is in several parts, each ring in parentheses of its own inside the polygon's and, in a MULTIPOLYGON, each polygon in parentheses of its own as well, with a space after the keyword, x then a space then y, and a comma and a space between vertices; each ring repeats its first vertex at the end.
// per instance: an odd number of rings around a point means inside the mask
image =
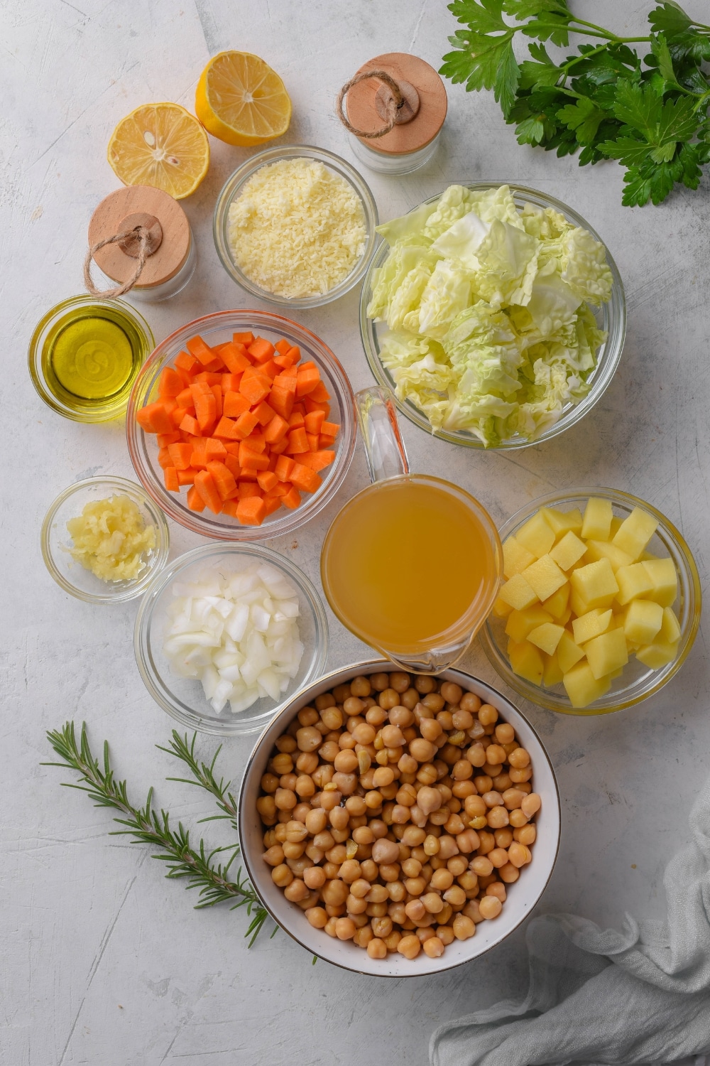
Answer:
POLYGON ((632 707, 634 704, 640 704, 642 699, 646 699, 647 696, 653 696, 682 666, 693 646, 700 624, 700 579, 690 548, 675 526, 660 511, 628 492, 622 492, 616 488, 597 487, 572 488, 566 491, 551 492, 549 496, 543 496, 522 507, 509 518, 499 530, 500 539, 505 542, 507 537, 517 532, 540 507, 557 507, 560 511, 572 511, 579 507, 580 511, 583 511, 590 496, 611 500, 615 517, 627 518, 634 507, 641 507, 658 520, 658 529, 651 537, 647 550, 655 555, 670 555, 675 563, 678 575, 678 596, 672 605, 680 623, 680 643, 678 653, 673 662, 659 669, 649 669, 639 662, 635 656, 631 656, 621 676, 612 681, 612 687, 607 695, 590 704, 589 707, 579 709, 571 705, 562 684, 546 689, 513 673, 506 655, 508 645, 508 637, 505 633, 506 619, 490 615, 480 631, 479 639, 483 650, 497 672, 511 689, 514 689, 522 696, 533 704, 546 707, 550 711, 560 711, 563 714, 610 714, 612 711, 632 707))

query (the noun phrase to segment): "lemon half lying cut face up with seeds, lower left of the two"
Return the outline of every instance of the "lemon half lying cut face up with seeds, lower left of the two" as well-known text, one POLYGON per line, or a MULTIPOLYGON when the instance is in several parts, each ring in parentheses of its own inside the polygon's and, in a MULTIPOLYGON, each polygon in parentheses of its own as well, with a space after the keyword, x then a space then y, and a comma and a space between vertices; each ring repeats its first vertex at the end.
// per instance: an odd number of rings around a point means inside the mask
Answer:
POLYGON ((152 185, 183 199, 210 165, 210 141, 179 103, 145 103, 111 134, 109 162, 125 185, 152 185))

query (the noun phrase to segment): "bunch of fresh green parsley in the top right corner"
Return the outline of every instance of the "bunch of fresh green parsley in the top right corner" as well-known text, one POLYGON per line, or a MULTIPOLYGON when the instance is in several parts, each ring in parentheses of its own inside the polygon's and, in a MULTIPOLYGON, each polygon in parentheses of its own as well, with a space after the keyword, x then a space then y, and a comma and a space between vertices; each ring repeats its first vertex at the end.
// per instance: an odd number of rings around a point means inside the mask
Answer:
POLYGON ((567 0, 453 0, 449 10, 465 28, 449 37, 441 72, 467 91, 493 90, 519 144, 579 151, 580 166, 617 159, 629 207, 660 204, 676 183, 697 189, 710 161, 710 26, 674 0, 654 7, 638 37, 577 18, 567 0), (573 33, 595 43, 552 58, 546 45, 567 48, 573 33), (523 62, 516 34, 534 38, 523 62))

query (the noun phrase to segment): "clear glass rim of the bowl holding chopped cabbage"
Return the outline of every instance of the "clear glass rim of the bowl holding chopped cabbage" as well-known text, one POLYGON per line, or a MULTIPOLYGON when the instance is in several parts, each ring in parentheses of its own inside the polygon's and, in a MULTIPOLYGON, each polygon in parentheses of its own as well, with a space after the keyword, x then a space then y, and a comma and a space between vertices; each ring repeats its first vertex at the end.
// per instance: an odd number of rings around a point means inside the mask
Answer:
MULTIPOLYGON (((566 410, 563 410, 558 421, 554 425, 551 425, 548 430, 546 430, 544 433, 540 434, 540 436, 536 437, 534 440, 523 440, 523 439, 516 440, 515 438, 511 438, 508 441, 502 441, 495 448, 492 447, 485 448, 483 442, 473 433, 469 433, 464 436, 466 431, 462 430, 459 431, 433 430, 424 411, 420 411, 418 407, 416 407, 410 401, 400 400, 399 397, 396 395, 394 383, 391 379, 389 372, 382 366, 382 362, 379 358, 379 354, 375 351, 375 344, 373 342, 373 338, 376 337, 375 334, 376 323, 371 319, 367 318, 366 312, 367 312, 367 305, 369 303, 371 294, 373 273, 379 265, 381 265, 379 259, 380 257, 384 256, 387 248, 385 241, 382 241, 380 245, 378 245, 378 247, 376 248, 375 253, 373 254, 369 264, 367 266, 367 273, 365 274, 365 277, 363 279, 363 285, 360 292, 360 338, 362 341, 363 349, 365 351, 365 357, 369 365, 369 369, 371 370, 373 375, 375 376, 375 379, 383 388, 387 388, 392 391, 397 409, 400 410, 401 414, 404 416, 404 418, 409 419, 409 421, 412 422, 414 425, 416 425, 419 430, 424 430, 430 436, 434 436, 442 440, 446 440, 448 441, 448 443, 451 445, 459 445, 462 448, 475 448, 489 452, 519 451, 523 448, 532 448, 535 445, 545 443, 545 441, 551 440, 554 437, 557 437, 561 433, 564 433, 565 430, 568 430, 573 425, 576 425, 577 422, 581 418, 583 418, 584 415, 587 415, 592 409, 592 407, 595 406, 595 404, 606 392, 614 374, 616 373, 616 369, 618 367, 622 354, 624 352, 624 343, 626 340, 627 312, 626 312, 626 293, 624 290, 624 282, 622 280, 622 276, 614 261, 614 258, 611 255, 609 248, 607 247, 606 242, 601 240, 601 238, 594 229, 594 227, 591 226, 587 222, 587 220, 582 217, 581 214, 579 214, 574 208, 569 207, 567 204, 563 203, 563 200, 557 199, 557 197, 555 196, 550 196, 548 193, 543 192, 541 189, 533 189, 531 185, 521 184, 517 181, 505 181, 505 180, 496 181, 493 179, 488 179, 481 181, 464 181, 461 182, 461 184, 465 189, 473 189, 473 190, 495 189, 500 185, 508 185, 513 197, 515 197, 516 194, 519 194, 521 198, 528 197, 528 200, 530 203, 535 204, 538 201, 538 206, 543 206, 542 203, 540 201, 544 201, 545 207, 555 208, 560 212, 560 214, 563 214, 566 219, 574 222, 577 226, 580 226, 582 229, 587 229, 588 232, 592 235, 592 237, 594 237, 597 241, 599 241, 600 244, 604 245, 607 256, 607 263, 609 265, 612 275, 612 289, 609 301, 607 301, 606 304, 601 305, 601 309, 604 308, 611 309, 612 305, 614 305, 614 303, 617 303, 618 325, 616 332, 618 335, 618 340, 616 342, 615 349, 611 352, 608 359, 607 359, 607 345, 609 343, 610 338, 607 338, 607 340, 605 341, 604 351, 601 353, 601 356, 597 358, 597 366, 594 368, 594 376, 592 378, 592 387, 590 391, 578 404, 576 404, 575 406, 568 406, 566 410), (616 301, 614 301, 614 295, 616 295, 616 301), (604 372, 601 375, 599 375, 598 370, 601 360, 606 361, 604 362, 602 367, 604 372)), ((422 207, 423 204, 435 203, 435 200, 440 199, 440 197, 443 195, 444 191, 445 190, 442 190, 442 192, 436 193, 435 196, 428 196, 425 199, 420 200, 413 208, 407 211, 406 214, 411 214, 412 211, 416 211, 417 208, 422 207)), ((609 313, 611 313, 611 310, 609 311, 609 313)))

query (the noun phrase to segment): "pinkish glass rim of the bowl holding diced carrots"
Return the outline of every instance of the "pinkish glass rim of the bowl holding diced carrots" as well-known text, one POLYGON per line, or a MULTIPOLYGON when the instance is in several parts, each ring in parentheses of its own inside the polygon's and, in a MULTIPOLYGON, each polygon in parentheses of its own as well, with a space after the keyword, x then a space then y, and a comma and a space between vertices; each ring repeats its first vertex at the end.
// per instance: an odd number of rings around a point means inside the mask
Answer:
MULTIPOLYGON (((228 329, 229 326, 225 325, 225 328, 228 329)), ((252 308, 240 307, 222 311, 212 311, 208 314, 202 314, 197 319, 192 319, 178 329, 174 329, 171 334, 160 342, 160 344, 155 345, 141 368, 133 383, 133 387, 131 388, 131 394, 129 397, 128 408, 126 411, 126 441, 136 477, 146 492, 148 492, 151 499, 169 518, 178 522, 180 526, 183 526, 185 529, 191 530, 193 533, 198 533, 201 536, 209 537, 211 540, 232 540, 234 543, 245 544, 248 542, 265 540, 277 536, 285 536, 293 533, 307 521, 310 521, 311 518, 314 518, 333 499, 345 481, 356 451, 357 423, 354 411, 354 392, 352 385, 350 384, 350 379, 345 372, 345 368, 332 349, 326 344, 326 342, 321 340, 317 334, 314 334, 312 329, 308 328, 308 326, 303 326, 299 322, 294 322, 292 319, 287 319, 283 314, 278 314, 276 311, 260 311, 252 308), (163 364, 167 365, 170 359, 175 358, 175 356, 166 354, 167 349, 175 345, 178 339, 182 340, 187 330, 196 333, 199 332, 201 327, 203 328, 205 326, 212 327, 215 325, 218 327, 220 322, 224 321, 227 323, 230 320, 233 321, 234 317, 236 317, 240 324, 248 324, 248 322, 250 322, 252 325, 259 325, 261 320, 262 327, 265 329, 279 333, 284 332, 279 327, 285 326, 286 334, 300 334, 307 338, 308 342, 316 349, 317 357, 320 358, 328 367, 330 374, 334 378, 337 389, 340 390, 339 402, 342 403, 344 413, 344 423, 341 425, 341 438, 345 440, 346 432, 349 431, 349 439, 345 442, 342 456, 336 454, 335 459, 331 465, 334 468, 331 480, 325 486, 321 486, 316 492, 310 495, 295 511, 284 512, 284 514, 275 521, 267 522, 262 526, 224 524, 213 528, 212 526, 207 524, 198 512, 187 511, 186 507, 181 505, 178 502, 181 499, 180 495, 165 489, 163 485, 153 480, 151 472, 148 469, 144 469, 144 464, 141 461, 139 454, 139 442, 144 439, 146 434, 145 431, 138 425, 135 416, 138 407, 137 395, 143 388, 144 382, 151 373, 153 373, 156 367, 163 364), (264 320, 267 321, 264 322, 264 320)), ((215 516, 215 518, 217 517, 218 516, 215 516)))

